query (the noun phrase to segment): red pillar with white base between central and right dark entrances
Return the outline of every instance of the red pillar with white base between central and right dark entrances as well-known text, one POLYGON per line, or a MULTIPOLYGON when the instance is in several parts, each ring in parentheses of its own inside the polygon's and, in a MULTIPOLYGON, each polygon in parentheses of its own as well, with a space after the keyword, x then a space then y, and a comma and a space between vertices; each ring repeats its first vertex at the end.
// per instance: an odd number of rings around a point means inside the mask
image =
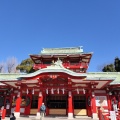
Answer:
POLYGON ((68 119, 73 119, 72 93, 68 93, 68 119))

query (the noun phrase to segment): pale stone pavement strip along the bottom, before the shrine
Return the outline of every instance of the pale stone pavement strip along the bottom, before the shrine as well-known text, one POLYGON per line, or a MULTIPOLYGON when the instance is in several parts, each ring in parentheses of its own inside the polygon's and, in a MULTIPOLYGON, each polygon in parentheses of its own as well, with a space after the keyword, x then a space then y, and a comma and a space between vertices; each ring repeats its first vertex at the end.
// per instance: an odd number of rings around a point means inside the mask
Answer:
MULTIPOLYGON (((48 117, 44 117, 42 120, 67 120, 67 117, 57 117, 57 116, 48 116, 48 117)), ((6 117, 4 120, 10 120, 9 117, 6 117)), ((16 120, 40 120, 40 119, 36 119, 35 116, 29 116, 29 117, 20 117, 17 118, 16 120)), ((72 120, 93 120, 90 117, 77 117, 77 118, 73 118, 72 120)), ((96 119, 98 120, 98 119, 96 119)))

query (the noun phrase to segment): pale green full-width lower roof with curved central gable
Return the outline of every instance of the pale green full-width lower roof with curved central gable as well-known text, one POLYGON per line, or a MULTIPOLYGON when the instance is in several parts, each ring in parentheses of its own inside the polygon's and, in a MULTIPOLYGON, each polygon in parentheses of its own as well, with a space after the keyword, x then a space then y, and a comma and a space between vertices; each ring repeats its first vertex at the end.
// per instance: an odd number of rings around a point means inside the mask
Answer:
MULTIPOLYGON (((70 71, 68 69, 62 68, 62 67, 53 67, 50 66, 48 68, 45 69, 41 69, 38 70, 34 73, 30 73, 30 74, 1 74, 0 73, 0 83, 3 83, 5 85, 10 85, 13 87, 17 87, 15 84, 17 83, 18 80, 22 79, 22 78, 26 78, 26 77, 34 77, 38 74, 41 73, 45 73, 45 72, 62 72, 62 73, 66 73, 69 74, 71 76, 78 76, 78 77, 86 77, 85 80, 77 80, 77 79, 71 79, 74 83, 78 83, 81 84, 83 82, 83 84, 85 83, 89 83, 91 81, 93 82, 97 82, 98 85, 96 86, 96 88, 100 89, 103 88, 106 85, 116 85, 119 84, 120 85, 120 72, 89 72, 89 73, 75 73, 73 71, 70 71)), ((3 84, 0 84, 0 86, 2 86, 3 84)))

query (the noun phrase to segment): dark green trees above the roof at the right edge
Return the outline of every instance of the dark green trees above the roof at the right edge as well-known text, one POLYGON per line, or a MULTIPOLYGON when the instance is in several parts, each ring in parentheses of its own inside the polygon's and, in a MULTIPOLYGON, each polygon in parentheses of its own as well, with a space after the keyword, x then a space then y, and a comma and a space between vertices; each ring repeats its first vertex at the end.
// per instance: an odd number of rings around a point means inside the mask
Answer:
POLYGON ((120 72, 120 59, 116 57, 114 63, 108 64, 103 67, 103 72, 120 72))

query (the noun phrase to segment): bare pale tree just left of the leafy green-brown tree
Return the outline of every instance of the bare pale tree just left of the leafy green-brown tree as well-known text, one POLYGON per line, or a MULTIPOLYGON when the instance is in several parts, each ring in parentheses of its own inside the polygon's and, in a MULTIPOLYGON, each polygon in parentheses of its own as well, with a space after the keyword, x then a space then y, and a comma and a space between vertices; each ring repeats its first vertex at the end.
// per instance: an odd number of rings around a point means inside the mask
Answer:
POLYGON ((11 57, 7 59, 6 68, 8 73, 16 73, 16 66, 18 65, 17 59, 15 57, 11 57))

